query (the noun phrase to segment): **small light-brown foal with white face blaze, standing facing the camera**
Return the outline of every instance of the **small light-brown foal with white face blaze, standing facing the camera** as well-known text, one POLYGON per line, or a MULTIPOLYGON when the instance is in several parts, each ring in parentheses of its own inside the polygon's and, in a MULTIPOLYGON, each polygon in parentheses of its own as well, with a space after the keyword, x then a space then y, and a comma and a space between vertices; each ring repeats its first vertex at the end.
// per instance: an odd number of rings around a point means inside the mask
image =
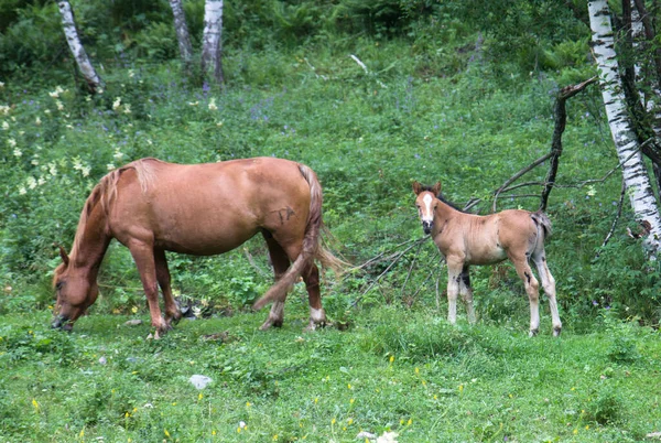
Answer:
POLYGON ((555 280, 546 266, 544 239, 551 235, 551 222, 542 212, 530 213, 508 209, 479 216, 463 213, 441 199, 441 183, 423 186, 413 183, 418 196, 415 206, 425 234, 432 239, 447 262, 447 320, 456 322, 457 295, 466 303, 468 321, 475 323, 470 264, 494 264, 506 258, 514 264, 530 300, 530 336, 540 327, 539 282, 528 262, 537 266, 542 287, 549 296, 553 335, 560 335, 562 323, 555 301, 555 280))

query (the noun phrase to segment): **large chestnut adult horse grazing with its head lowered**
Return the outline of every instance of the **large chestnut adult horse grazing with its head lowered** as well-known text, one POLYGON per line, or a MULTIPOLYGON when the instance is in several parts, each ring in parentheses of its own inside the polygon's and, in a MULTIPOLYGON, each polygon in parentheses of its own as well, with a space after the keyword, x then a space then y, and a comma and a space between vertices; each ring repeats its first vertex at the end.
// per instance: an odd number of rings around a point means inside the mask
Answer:
POLYGON ((99 266, 112 238, 133 256, 158 335, 181 317, 165 251, 218 255, 261 233, 277 280, 254 303, 260 309, 273 302, 261 328, 282 325, 286 293, 299 277, 305 281, 308 327, 314 328, 326 321, 314 259, 340 263, 319 245, 321 227, 322 187, 303 164, 273 158, 187 165, 134 161, 100 180, 85 202, 71 253, 59 248, 53 327, 71 329, 96 301, 99 266))

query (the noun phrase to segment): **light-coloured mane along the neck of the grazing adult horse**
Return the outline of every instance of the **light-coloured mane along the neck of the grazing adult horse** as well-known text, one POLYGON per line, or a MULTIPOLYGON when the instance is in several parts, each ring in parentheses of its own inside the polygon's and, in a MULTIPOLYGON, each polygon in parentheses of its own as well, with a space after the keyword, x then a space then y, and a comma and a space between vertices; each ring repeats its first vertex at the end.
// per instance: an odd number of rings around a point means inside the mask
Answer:
POLYGON ((107 216, 108 207, 112 198, 117 197, 117 183, 119 182, 120 176, 129 171, 134 170, 138 175, 138 181, 140 182, 140 187, 142 192, 147 192, 149 186, 153 183, 155 171, 154 164, 162 163, 158 159, 145 158, 136 160, 124 166, 118 168, 113 171, 110 171, 108 174, 104 175, 99 183, 91 190, 91 194, 85 201, 85 206, 83 206, 83 212, 80 213, 80 219, 78 220, 78 227, 76 228, 76 236, 74 237, 74 245, 72 246, 71 255, 75 257, 78 253, 80 241, 83 241, 83 235, 85 234, 85 226, 89 219, 89 215, 94 210, 94 208, 100 204, 101 210, 107 216))

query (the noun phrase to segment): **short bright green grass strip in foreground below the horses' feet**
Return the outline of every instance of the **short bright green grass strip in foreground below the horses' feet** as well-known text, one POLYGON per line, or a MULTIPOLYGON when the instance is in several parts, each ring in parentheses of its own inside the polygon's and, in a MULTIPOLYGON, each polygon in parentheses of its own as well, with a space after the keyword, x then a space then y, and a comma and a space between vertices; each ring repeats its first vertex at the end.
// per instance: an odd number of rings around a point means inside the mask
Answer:
POLYGON ((259 332, 264 313, 241 313, 184 320, 161 341, 145 339, 145 316, 131 327, 89 315, 72 334, 48 329, 47 312, 3 316, 0 437, 592 442, 640 441, 661 423, 649 329, 606 322, 553 338, 543 317, 528 338, 524 318, 453 327, 387 306, 357 312, 348 331, 303 334, 304 304, 288 310, 282 329, 259 332), (203 338, 224 331, 225 344, 203 338), (197 390, 195 374, 214 381, 197 390))

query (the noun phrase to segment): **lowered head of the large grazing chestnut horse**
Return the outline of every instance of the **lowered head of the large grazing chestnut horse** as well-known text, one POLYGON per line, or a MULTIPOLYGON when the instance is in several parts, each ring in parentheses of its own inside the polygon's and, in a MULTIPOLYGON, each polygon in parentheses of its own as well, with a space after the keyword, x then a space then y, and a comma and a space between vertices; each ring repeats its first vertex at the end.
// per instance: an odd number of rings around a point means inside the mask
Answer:
POLYGON ((57 301, 51 326, 71 331, 74 322, 96 301, 99 288, 90 271, 85 268, 76 268, 71 263, 62 247, 59 247, 59 256, 62 263, 55 269, 53 277, 57 301))

